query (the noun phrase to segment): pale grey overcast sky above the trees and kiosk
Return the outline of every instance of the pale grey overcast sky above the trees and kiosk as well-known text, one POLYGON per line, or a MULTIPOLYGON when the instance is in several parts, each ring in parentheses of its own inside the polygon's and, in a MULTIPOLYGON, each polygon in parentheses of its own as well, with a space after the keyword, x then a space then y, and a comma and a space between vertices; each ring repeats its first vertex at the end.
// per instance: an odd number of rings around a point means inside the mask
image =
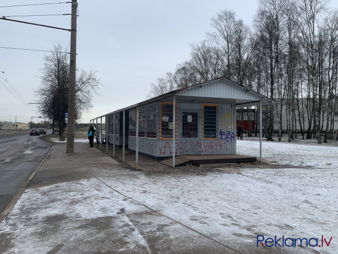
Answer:
MULTIPOLYGON (((0 17, 71 13, 71 4, 64 3, 3 7, 46 3, 60 2, 0 0, 0 17)), ((151 83, 166 72, 174 73, 178 63, 190 58, 190 44, 206 38, 212 16, 224 8, 250 26, 257 9, 256 0, 78 0, 78 4, 77 67, 97 71, 102 84, 81 122, 144 101, 151 83)), ((331 1, 330 7, 338 8, 338 1, 331 1)), ((70 28, 67 15, 8 18, 70 28)), ((69 47, 70 32, 0 20, 0 121, 11 117, 13 122, 16 116, 18 122, 29 122, 31 116, 42 116, 33 111, 34 104, 26 103, 37 100, 33 91, 39 92, 43 58, 50 54, 8 48, 48 51, 57 43, 69 47), (20 100, 4 84, 14 87, 20 100)))

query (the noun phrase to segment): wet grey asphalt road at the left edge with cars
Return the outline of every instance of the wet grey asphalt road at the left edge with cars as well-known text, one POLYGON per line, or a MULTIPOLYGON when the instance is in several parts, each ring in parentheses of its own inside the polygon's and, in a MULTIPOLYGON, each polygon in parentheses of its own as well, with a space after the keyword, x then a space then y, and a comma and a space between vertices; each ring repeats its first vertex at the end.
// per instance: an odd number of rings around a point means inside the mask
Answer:
POLYGON ((28 133, 0 135, 0 213, 52 147, 41 137, 28 133))

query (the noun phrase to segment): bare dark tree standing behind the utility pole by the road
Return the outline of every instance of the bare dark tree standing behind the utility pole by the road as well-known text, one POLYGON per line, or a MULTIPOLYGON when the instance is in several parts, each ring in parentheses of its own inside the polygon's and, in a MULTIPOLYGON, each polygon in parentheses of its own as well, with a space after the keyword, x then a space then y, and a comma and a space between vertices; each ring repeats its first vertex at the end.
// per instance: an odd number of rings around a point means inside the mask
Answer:
MULTIPOLYGON (((54 46, 51 55, 45 55, 44 66, 41 69, 41 84, 36 93, 39 94, 40 111, 58 124, 59 135, 63 134, 65 127, 64 112, 68 109, 68 82, 69 59, 66 49, 62 45, 54 46)), ((81 70, 76 80, 76 108, 89 110, 91 108, 92 95, 96 93, 99 80, 96 72, 86 73, 81 70)), ((84 111, 82 111, 84 112, 84 111)), ((80 110, 76 116, 80 116, 80 110)))

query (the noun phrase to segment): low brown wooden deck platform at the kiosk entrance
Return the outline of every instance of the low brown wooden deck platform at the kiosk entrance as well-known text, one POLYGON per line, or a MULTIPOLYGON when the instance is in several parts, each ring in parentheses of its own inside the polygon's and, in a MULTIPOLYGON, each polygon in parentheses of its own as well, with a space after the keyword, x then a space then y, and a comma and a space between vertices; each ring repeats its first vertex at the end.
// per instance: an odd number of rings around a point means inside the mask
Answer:
MULTIPOLYGON (((244 156, 238 154, 224 154, 224 155, 177 155, 175 156, 175 167, 187 164, 216 164, 216 163, 241 163, 241 162, 255 162, 256 157, 244 156)), ((160 163, 172 167, 172 157, 159 161, 160 163)))

